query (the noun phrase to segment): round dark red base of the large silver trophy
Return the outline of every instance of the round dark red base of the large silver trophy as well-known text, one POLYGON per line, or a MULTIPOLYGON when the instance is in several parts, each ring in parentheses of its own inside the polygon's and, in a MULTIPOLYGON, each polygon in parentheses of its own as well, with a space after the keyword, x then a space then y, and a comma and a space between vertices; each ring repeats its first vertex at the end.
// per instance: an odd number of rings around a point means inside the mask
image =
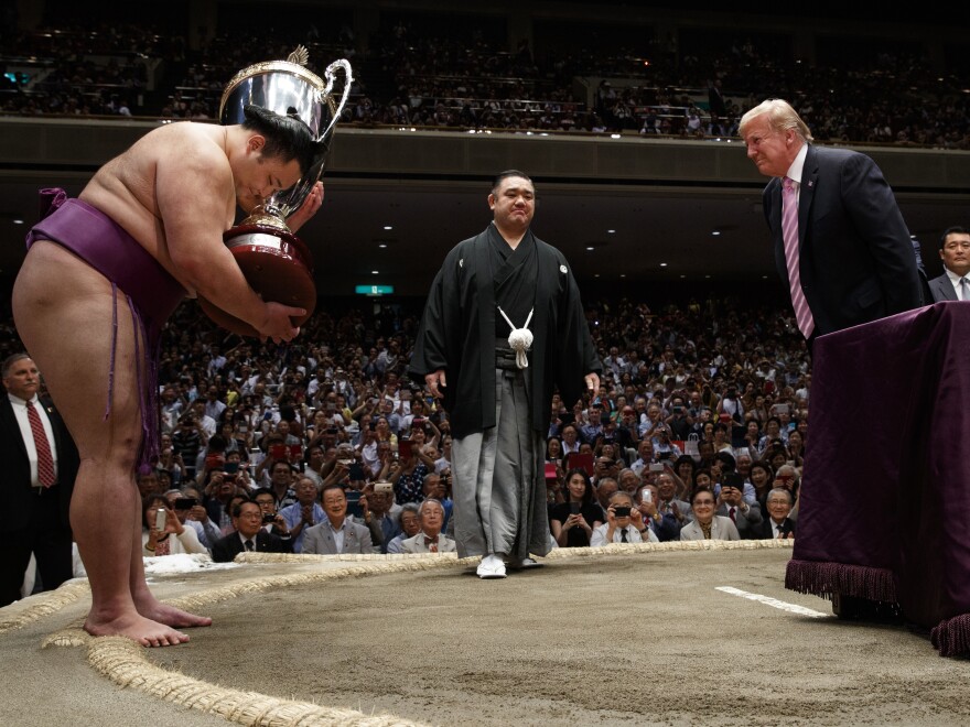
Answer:
MULTIPOLYGON (((239 225, 223 235, 246 281, 263 301, 306 310, 293 316, 303 325, 316 307, 313 259, 306 245, 292 232, 268 225, 239 225)), ((203 312, 219 327, 239 336, 259 337, 250 324, 198 296, 203 312)))

